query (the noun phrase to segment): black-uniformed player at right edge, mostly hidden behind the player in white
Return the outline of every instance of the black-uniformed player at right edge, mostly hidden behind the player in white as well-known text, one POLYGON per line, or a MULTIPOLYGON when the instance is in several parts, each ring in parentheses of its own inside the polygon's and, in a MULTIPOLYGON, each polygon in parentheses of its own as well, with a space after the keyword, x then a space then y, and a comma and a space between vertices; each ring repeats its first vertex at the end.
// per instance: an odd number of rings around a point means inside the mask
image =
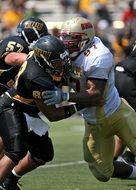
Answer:
MULTIPOLYGON (((130 48, 131 49, 131 48, 130 48)), ((118 89, 120 97, 124 98, 129 105, 136 111, 136 42, 133 42, 132 51, 122 62, 115 67, 115 85, 118 89), (127 87, 127 88, 126 88, 127 87)), ((126 162, 135 163, 135 155, 125 149, 124 143, 118 139, 115 158, 122 159, 126 162), (117 149, 117 150, 118 150, 117 149), (119 154, 120 153, 120 154, 119 154), (123 153, 123 154, 122 154, 123 153)))

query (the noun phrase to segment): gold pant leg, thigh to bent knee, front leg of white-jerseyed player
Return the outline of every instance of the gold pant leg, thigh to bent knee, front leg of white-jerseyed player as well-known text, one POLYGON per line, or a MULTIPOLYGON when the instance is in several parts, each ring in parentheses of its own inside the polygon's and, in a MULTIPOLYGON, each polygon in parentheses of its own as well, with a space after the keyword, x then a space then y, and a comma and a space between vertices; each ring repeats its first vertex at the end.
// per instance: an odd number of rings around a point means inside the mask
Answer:
POLYGON ((85 122, 83 139, 84 158, 89 169, 99 181, 108 181, 112 176, 114 136, 106 137, 107 131, 101 125, 90 125, 85 122))

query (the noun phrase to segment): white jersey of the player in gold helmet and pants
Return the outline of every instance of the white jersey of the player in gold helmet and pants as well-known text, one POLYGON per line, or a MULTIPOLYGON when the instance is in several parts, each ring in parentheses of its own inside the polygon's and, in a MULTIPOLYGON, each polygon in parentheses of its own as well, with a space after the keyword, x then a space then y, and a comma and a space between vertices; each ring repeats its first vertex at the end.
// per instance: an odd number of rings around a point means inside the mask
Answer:
POLYGON ((107 80, 104 106, 87 107, 80 111, 81 115, 90 124, 101 122, 105 117, 110 116, 121 102, 118 91, 114 86, 113 56, 101 40, 94 37, 91 48, 80 54, 73 64, 82 70, 82 75, 79 79, 80 92, 86 90, 86 80, 89 78, 107 80))

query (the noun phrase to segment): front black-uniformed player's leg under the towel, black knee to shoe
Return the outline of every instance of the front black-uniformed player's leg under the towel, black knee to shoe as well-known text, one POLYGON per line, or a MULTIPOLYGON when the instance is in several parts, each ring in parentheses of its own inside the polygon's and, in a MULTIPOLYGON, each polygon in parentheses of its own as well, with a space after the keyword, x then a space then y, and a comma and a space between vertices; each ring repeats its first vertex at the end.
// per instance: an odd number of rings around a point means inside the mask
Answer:
POLYGON ((4 181, 1 187, 5 187, 6 190, 9 190, 11 187, 13 189, 18 188, 18 180, 24 174, 53 159, 53 145, 48 136, 48 132, 42 136, 35 134, 33 131, 29 132, 29 151, 30 153, 28 153, 12 170, 12 173, 4 181))

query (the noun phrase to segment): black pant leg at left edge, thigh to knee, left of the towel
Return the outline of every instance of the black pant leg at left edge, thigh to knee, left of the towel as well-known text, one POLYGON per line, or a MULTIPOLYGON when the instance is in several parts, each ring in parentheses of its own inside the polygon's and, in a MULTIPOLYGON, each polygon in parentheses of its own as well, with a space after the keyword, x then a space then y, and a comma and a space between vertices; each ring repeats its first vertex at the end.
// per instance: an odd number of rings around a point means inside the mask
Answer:
POLYGON ((22 112, 8 108, 0 114, 0 136, 5 154, 17 164, 27 153, 27 123, 22 112))

